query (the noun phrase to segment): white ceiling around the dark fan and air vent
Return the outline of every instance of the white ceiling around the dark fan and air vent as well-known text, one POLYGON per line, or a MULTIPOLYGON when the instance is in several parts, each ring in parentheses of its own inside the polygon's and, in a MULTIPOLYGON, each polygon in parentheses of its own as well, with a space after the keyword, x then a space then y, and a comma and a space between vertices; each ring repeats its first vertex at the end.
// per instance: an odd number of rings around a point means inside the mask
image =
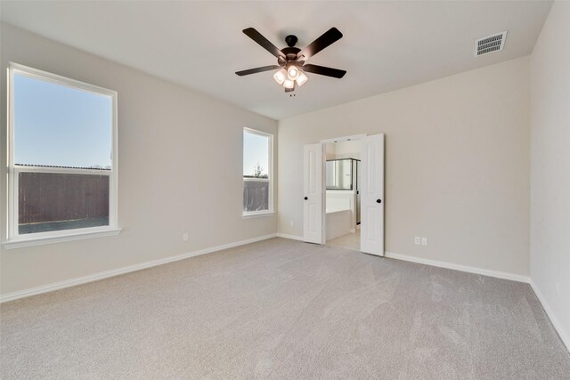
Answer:
POLYGON ((507 61, 532 52, 550 1, 447 2, 1 2, 1 19, 90 53, 186 85, 274 119, 507 61), (272 71, 235 71, 276 59, 241 30, 282 48, 331 27, 344 37, 310 63, 346 69, 309 74, 290 98, 272 71), (475 40, 509 30, 505 49, 474 57, 475 40))

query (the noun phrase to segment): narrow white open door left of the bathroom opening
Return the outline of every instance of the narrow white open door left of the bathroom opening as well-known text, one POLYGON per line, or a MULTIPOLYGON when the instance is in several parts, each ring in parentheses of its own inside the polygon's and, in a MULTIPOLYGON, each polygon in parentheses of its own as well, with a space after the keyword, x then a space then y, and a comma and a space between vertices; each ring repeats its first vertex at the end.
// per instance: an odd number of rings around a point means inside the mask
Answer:
POLYGON ((305 145, 303 159, 303 240, 324 244, 324 158, 322 143, 305 145))

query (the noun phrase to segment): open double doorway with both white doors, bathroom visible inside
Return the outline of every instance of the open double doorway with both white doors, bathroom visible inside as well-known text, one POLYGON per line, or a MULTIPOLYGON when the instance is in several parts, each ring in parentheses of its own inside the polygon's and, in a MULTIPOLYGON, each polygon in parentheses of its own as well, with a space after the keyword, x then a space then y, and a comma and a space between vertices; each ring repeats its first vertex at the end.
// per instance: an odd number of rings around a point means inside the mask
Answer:
POLYGON ((305 242, 342 244, 363 253, 384 255, 384 133, 305 145, 303 176, 305 242), (353 143, 341 145, 348 141, 353 143), (336 145, 328 145, 333 143, 336 145), (330 195, 335 192, 328 201, 327 178, 330 195), (343 239, 333 241, 337 238, 343 239))

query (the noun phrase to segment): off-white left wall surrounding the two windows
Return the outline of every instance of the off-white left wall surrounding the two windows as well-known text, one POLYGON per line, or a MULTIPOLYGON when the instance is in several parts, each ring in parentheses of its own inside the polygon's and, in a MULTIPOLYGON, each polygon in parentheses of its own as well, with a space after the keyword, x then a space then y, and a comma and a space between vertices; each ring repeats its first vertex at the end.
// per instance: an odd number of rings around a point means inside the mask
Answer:
MULTIPOLYGON (((2 25, 1 35, 2 73, 14 61, 118 91, 118 222, 124 229, 117 237, 2 247, 2 295, 276 232, 274 216, 241 217, 242 128, 276 133, 274 120, 18 28, 2 25), (186 231, 190 241, 184 243, 186 231)), ((4 241, 6 76, 0 77, 4 241)))

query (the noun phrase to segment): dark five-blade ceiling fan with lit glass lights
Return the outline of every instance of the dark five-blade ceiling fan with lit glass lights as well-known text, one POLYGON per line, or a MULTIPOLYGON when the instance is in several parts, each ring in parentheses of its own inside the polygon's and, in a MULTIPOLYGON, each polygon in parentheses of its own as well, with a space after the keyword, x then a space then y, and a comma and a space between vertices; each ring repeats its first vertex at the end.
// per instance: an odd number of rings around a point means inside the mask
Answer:
POLYGON ((322 36, 315 39, 311 44, 308 44, 304 49, 295 47, 295 44, 297 44, 297 36, 289 35, 285 37, 287 47, 280 50, 277 46, 269 42, 265 36, 262 36, 262 34, 255 28, 243 29, 243 33, 254 40, 257 44, 260 44, 267 52, 272 53, 277 57, 277 65, 237 71, 236 74, 240 77, 278 69, 278 71, 273 74, 273 79, 275 79, 275 82, 279 85, 283 85, 285 93, 292 93, 295 91, 296 85, 304 85, 308 80, 308 77, 305 75, 305 71, 336 78, 344 77, 346 74, 345 70, 332 69, 305 63, 309 58, 314 56, 314 54, 321 52, 322 49, 326 48, 330 44, 334 44, 342 38, 342 33, 340 33, 338 28, 330 28, 324 32, 322 36))

